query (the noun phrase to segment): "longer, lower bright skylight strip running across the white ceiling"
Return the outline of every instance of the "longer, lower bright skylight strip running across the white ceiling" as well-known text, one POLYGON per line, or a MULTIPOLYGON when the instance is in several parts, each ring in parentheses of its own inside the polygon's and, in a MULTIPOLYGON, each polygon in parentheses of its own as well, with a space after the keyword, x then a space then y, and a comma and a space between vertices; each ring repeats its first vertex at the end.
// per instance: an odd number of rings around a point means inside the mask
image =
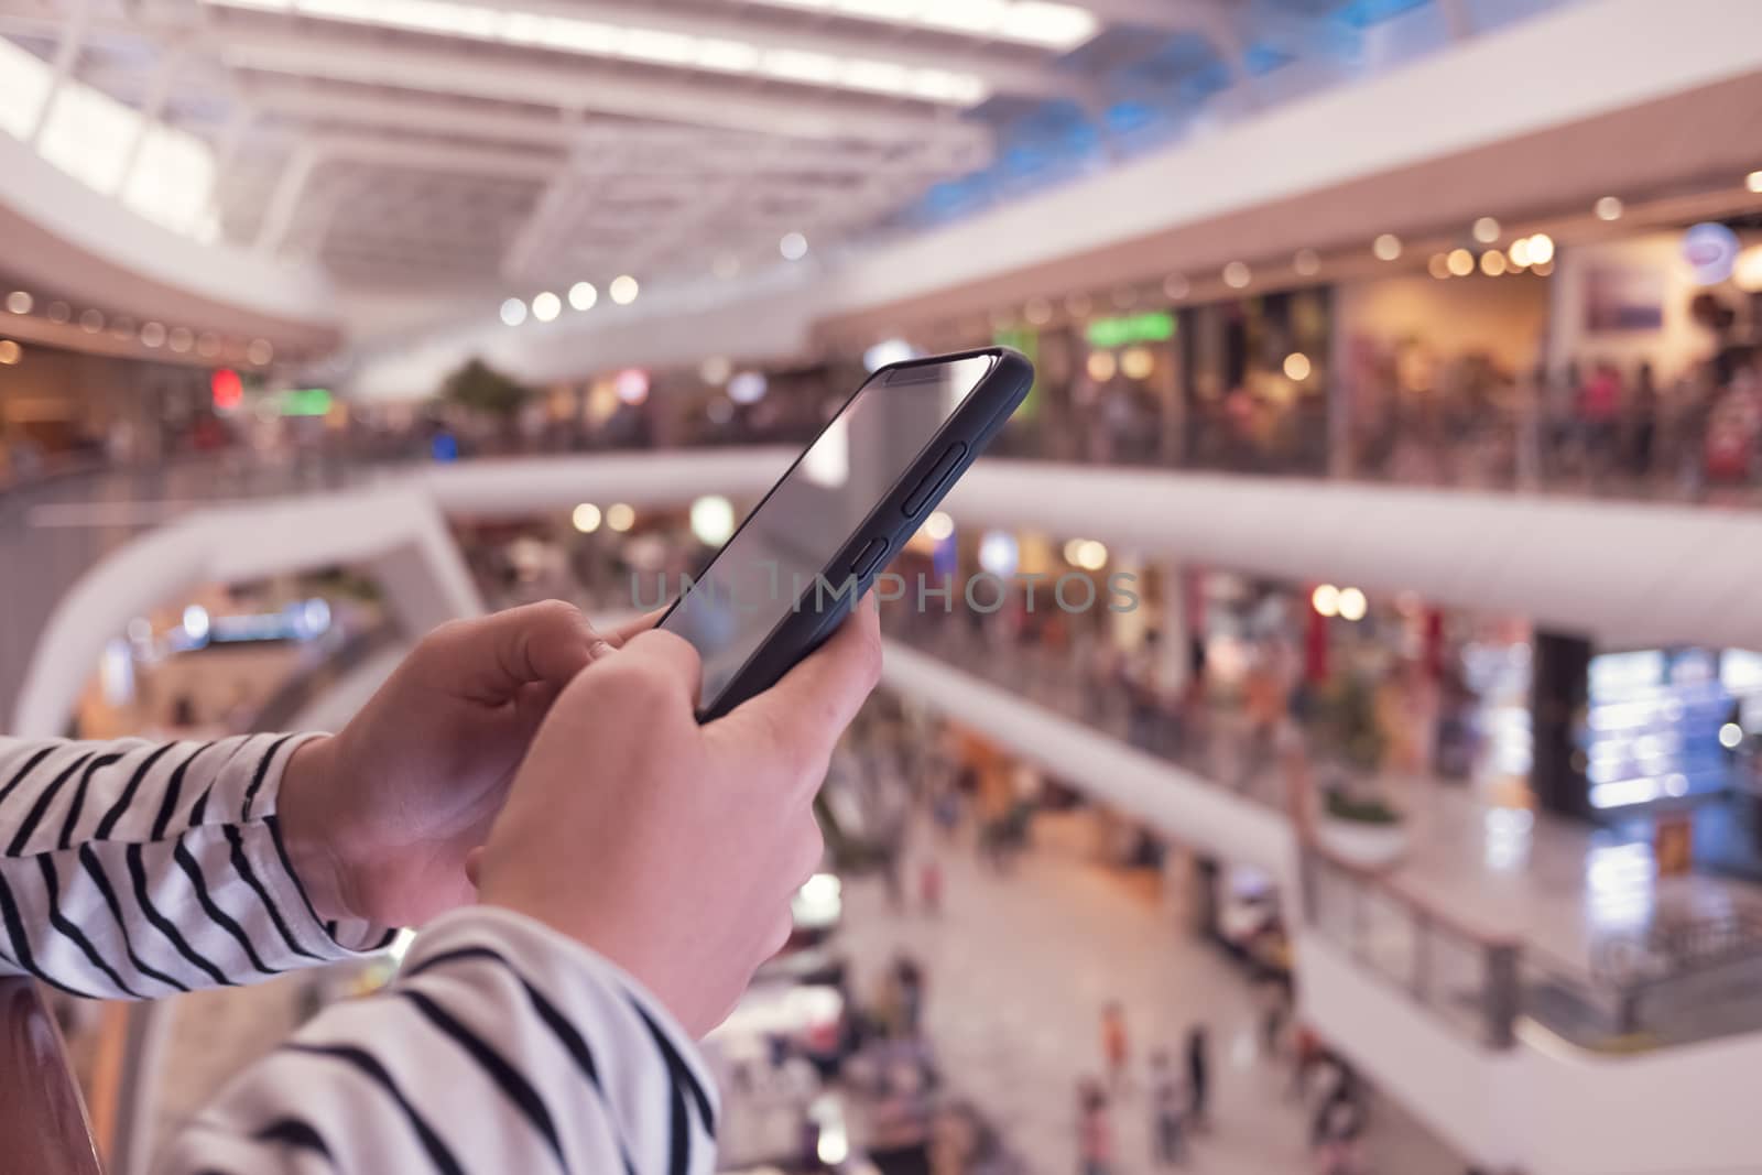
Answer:
MULTIPOLYGON (((726 37, 698 37, 636 25, 611 25, 606 21, 523 12, 520 9, 486 7, 456 0, 206 2, 217 7, 292 12, 319 19, 351 21, 381 28, 407 28, 412 32, 469 37, 472 41, 523 44, 539 49, 622 58, 652 65, 775 78, 779 81, 922 99, 946 106, 973 106, 983 102, 988 95, 988 88, 981 78, 960 70, 920 69, 893 62, 782 49, 726 37)), ((964 7, 964 4, 957 4, 955 7, 964 7)), ((1004 7, 1057 9, 1061 5, 1013 4, 1004 7)))

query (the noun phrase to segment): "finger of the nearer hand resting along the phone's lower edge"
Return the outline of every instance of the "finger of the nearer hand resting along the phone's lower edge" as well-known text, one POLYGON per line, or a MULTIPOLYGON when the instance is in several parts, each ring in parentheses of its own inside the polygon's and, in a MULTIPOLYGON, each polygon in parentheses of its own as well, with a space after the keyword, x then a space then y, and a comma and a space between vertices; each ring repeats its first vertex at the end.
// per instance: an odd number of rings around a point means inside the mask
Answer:
POLYGON ((781 754, 803 765, 823 763, 879 682, 881 620, 874 594, 869 594, 839 631, 781 682, 710 726, 738 731, 758 724, 781 754))

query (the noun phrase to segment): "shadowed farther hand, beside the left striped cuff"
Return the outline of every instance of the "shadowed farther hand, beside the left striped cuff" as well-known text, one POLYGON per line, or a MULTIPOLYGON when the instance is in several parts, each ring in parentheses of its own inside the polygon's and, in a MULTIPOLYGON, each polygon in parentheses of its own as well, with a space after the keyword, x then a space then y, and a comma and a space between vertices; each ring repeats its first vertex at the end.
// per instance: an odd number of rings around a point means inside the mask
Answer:
POLYGON ((423 638, 340 735, 301 745, 287 766, 282 835, 314 909, 407 927, 474 900, 465 856, 490 835, 552 703, 654 620, 601 634, 546 601, 423 638))

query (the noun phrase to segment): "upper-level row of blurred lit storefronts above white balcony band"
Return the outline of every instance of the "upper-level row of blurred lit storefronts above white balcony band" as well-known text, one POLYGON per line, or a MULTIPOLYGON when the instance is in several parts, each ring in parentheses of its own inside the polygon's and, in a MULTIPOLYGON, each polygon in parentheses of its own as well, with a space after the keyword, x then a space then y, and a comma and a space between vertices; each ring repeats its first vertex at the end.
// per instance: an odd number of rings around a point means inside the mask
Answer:
MULTIPOLYGON (((1099 377, 1082 365, 1068 375, 1048 368, 1040 389, 1047 407, 1011 419, 994 451, 1484 488, 1669 497, 1748 488, 1762 476, 1762 359, 1739 338, 1729 307, 1702 296, 1695 315, 1714 340, 1713 351, 1667 372, 1644 359, 1598 356, 1558 370, 1515 372, 1484 351, 1434 356, 1417 340, 1344 372, 1325 372, 1316 358, 1302 381, 1258 368, 1216 388, 1198 379, 1203 395, 1198 388, 1175 391, 1179 381, 1166 373, 1175 363, 1172 351, 1158 352, 1156 377, 1145 375, 1149 361, 1110 359, 1099 377)), ((1304 358, 1306 372, 1309 363, 1304 358)), ((744 377, 749 382, 738 395, 733 384, 710 384, 696 372, 620 372, 534 389, 485 368, 483 379, 506 395, 453 395, 455 377, 446 395, 426 403, 337 402, 322 418, 291 419, 277 416, 266 391, 252 391, 226 410, 183 396, 183 410, 144 426, 113 421, 62 428, 53 439, 21 426, 0 430, 0 488, 55 469, 125 467, 229 449, 266 460, 377 465, 800 444, 856 388, 863 370, 833 359, 768 379, 756 372, 744 377), (257 395, 264 398, 250 398, 257 395)))

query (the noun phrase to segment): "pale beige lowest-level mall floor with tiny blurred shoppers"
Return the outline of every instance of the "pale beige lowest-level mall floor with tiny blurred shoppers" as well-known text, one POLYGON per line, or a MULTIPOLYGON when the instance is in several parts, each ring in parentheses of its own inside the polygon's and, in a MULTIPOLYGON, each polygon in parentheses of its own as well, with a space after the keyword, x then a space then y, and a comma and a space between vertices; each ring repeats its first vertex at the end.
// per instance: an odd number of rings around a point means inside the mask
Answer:
MULTIPOLYGON (((1080 828, 1045 817, 1038 824, 1043 847, 1008 876, 981 867, 964 844, 930 849, 930 839, 918 837, 918 853, 934 851, 943 867, 937 916, 892 913, 877 879, 849 881, 839 946, 855 964, 858 995, 897 951, 925 965, 925 1024, 946 1080, 1036 1175, 1078 1170, 1075 1089, 1103 1071, 1099 1015, 1108 1001, 1126 1009, 1138 1073, 1114 1101, 1115 1175, 1154 1168, 1144 1064, 1154 1048, 1179 1057, 1195 1024, 1210 1032, 1214 1092, 1212 1127, 1193 1138, 1189 1170, 1316 1170, 1306 1145, 1311 1110, 1286 1097, 1290 1059, 1262 1053, 1256 992, 1240 967, 1188 930, 1186 895, 1154 876, 1092 863, 1080 828)), ((1464 1170, 1387 1097, 1371 1113, 1369 1171, 1464 1170)))

